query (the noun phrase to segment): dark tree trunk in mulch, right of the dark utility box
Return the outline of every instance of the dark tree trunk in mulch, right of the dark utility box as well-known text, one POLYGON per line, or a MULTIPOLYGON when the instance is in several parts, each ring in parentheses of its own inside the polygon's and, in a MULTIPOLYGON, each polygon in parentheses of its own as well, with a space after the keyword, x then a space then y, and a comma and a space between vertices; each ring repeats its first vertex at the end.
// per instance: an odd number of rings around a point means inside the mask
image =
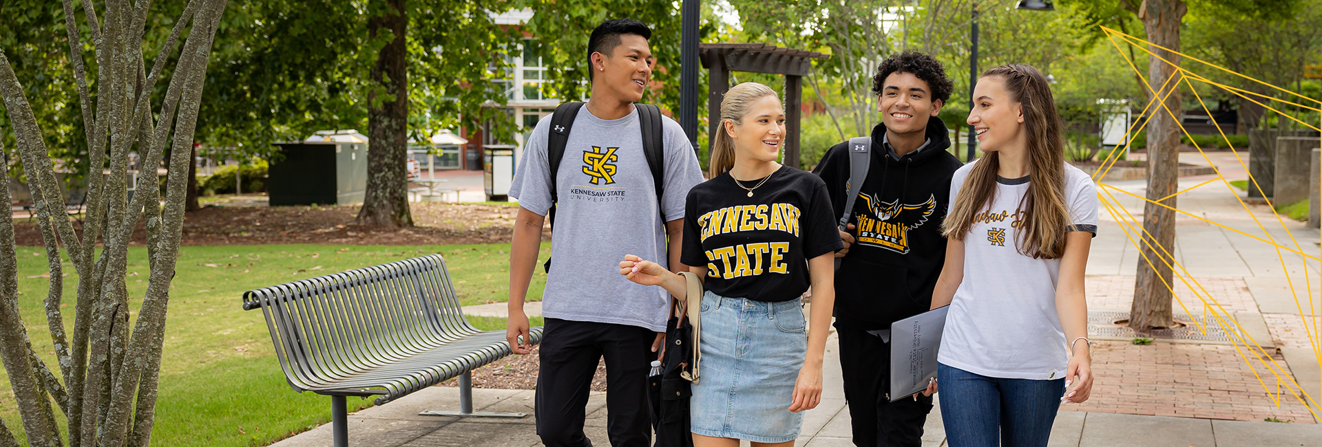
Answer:
POLYGON ((368 191, 358 211, 364 225, 412 227, 408 214, 407 131, 408 78, 405 69, 405 0, 373 0, 385 11, 368 18, 369 38, 394 36, 371 67, 373 88, 368 92, 368 191), (381 86, 379 88, 377 86, 381 86))

